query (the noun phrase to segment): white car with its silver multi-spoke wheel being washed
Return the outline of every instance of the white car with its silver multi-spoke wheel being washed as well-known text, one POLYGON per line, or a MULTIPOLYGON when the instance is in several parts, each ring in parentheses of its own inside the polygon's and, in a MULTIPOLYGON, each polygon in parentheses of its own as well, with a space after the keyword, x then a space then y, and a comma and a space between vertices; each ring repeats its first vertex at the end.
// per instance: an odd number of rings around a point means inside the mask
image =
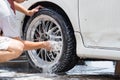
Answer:
POLYGON ((22 5, 44 8, 32 17, 17 13, 21 37, 59 44, 53 51, 27 51, 36 69, 60 73, 78 59, 120 60, 120 0, 28 0, 22 5))

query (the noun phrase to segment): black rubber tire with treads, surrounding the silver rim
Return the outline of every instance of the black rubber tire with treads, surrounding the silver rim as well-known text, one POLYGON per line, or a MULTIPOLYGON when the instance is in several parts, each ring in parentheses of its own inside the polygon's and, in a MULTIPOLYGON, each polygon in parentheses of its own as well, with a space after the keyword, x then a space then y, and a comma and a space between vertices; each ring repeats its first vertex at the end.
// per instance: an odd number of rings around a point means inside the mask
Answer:
MULTIPOLYGON (((27 22, 27 25, 25 27, 25 32, 28 31, 30 23, 38 16, 40 15, 47 15, 52 18, 54 18, 60 25, 63 35, 63 51, 60 59, 58 62, 53 65, 49 71, 52 73, 61 73, 66 72, 73 68, 76 63, 78 62, 78 57, 76 55, 76 41, 75 41, 75 35, 72 27, 68 24, 66 19, 64 19, 64 16, 61 16, 56 11, 52 9, 41 9, 39 12, 37 12, 35 15, 33 15, 29 21, 27 22)), ((27 33, 25 34, 24 38, 26 38, 27 33)), ((33 67, 36 69, 40 69, 41 67, 38 67, 35 65, 35 63, 31 60, 31 57, 29 54, 27 54, 28 59, 33 67)))

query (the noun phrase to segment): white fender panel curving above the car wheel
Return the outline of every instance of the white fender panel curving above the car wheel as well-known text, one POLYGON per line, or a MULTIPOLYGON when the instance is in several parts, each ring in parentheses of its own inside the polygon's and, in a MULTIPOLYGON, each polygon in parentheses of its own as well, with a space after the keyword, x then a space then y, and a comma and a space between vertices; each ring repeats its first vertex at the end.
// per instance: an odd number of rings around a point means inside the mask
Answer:
MULTIPOLYGON (((74 26, 75 31, 79 31, 79 26, 78 26, 78 0, 71 0, 70 3, 69 0, 28 0, 22 3, 22 5, 26 8, 30 8, 32 5, 34 5, 37 2, 51 2, 56 5, 58 5, 60 8, 65 11, 67 16, 69 17, 70 21, 72 22, 72 25, 74 26), (72 4, 72 5, 71 5, 72 4), (74 11, 73 11, 74 10, 74 11)), ((23 16, 23 14, 18 12, 18 16, 23 16)), ((21 17, 20 21, 23 20, 23 17, 21 17)))

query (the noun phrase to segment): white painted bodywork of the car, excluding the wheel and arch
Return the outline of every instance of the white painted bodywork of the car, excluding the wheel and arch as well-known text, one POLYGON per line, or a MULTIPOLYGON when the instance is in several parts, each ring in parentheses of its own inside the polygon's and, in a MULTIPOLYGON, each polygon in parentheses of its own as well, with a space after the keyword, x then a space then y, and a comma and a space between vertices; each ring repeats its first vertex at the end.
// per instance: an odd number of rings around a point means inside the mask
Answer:
MULTIPOLYGON (((28 0, 22 5, 29 8, 43 1, 58 5, 69 17, 80 58, 120 60, 119 0, 28 0)), ((17 16, 23 21, 24 14, 17 16)))

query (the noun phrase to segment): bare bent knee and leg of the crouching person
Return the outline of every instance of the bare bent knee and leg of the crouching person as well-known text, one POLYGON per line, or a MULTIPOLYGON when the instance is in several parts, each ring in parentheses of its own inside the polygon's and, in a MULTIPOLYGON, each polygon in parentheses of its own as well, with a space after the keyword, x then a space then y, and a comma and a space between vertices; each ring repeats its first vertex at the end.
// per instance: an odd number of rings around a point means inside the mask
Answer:
POLYGON ((6 51, 0 51, 0 63, 19 57, 23 52, 24 45, 17 40, 12 39, 6 51))

